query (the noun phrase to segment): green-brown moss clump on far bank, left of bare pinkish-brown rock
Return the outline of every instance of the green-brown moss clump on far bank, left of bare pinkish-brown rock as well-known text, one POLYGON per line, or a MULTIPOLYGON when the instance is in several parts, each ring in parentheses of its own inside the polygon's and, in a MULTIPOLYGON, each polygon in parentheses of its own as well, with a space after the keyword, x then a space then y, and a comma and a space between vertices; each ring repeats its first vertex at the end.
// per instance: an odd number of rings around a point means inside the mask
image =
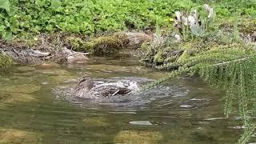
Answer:
POLYGON ((126 34, 114 34, 104 36, 86 42, 82 38, 69 37, 66 42, 75 51, 89 52, 90 54, 115 54, 129 42, 126 34))

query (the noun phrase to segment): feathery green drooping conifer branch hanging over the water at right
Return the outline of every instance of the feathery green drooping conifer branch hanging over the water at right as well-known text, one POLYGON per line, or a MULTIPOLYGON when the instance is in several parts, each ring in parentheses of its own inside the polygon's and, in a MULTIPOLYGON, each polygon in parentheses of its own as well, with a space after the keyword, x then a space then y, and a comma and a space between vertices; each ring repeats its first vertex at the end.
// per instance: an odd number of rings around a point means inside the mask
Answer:
MULTIPOLYGON (((162 48, 159 50, 161 51, 162 48)), ((158 56, 159 53, 161 52, 158 51, 155 56, 158 56)), ((168 57, 171 57, 171 54, 168 57)), ((226 91, 224 113, 228 118, 230 115, 236 114, 236 110, 238 110, 238 114, 246 126, 239 143, 245 144, 256 130, 256 124, 252 119, 256 114, 256 105, 254 104, 256 97, 255 66, 255 46, 245 43, 210 46, 208 49, 196 52, 187 49, 176 61, 162 64, 162 68, 171 70, 165 77, 147 84, 144 88, 150 88, 182 75, 199 75, 211 86, 226 91)))

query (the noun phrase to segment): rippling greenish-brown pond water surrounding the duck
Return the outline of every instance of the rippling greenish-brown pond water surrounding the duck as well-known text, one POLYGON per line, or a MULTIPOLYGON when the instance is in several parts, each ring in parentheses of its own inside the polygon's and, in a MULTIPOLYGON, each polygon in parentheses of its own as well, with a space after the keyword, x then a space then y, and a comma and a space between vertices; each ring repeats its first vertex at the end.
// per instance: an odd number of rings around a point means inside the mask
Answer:
POLYGON ((54 94, 83 74, 152 80, 165 72, 134 58, 80 65, 14 66, 0 77, 0 143, 234 143, 239 118, 223 118, 223 94, 198 78, 177 78, 133 105, 70 101, 54 94))

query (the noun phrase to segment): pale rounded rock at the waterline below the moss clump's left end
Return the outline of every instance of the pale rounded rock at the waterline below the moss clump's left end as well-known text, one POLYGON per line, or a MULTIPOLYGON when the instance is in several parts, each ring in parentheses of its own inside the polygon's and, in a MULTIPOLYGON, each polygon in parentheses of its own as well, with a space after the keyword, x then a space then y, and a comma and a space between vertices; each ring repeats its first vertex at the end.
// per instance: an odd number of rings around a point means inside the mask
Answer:
POLYGON ((68 63, 84 63, 88 62, 89 58, 84 53, 73 53, 67 56, 66 62, 68 63))

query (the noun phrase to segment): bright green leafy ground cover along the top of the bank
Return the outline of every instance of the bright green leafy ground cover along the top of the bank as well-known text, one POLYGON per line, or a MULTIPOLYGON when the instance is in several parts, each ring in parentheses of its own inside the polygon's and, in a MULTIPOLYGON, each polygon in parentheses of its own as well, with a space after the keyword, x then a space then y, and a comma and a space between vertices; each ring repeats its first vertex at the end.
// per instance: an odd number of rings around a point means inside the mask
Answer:
MULTIPOLYGON (((255 4, 238 0, 215 2, 217 14, 229 17, 233 10, 254 15, 255 4), (226 3, 225 3, 226 2, 226 3)), ((102 32, 170 26, 175 10, 190 10, 200 2, 191 0, 0 0, 1 37, 57 31, 94 35, 102 32)))

